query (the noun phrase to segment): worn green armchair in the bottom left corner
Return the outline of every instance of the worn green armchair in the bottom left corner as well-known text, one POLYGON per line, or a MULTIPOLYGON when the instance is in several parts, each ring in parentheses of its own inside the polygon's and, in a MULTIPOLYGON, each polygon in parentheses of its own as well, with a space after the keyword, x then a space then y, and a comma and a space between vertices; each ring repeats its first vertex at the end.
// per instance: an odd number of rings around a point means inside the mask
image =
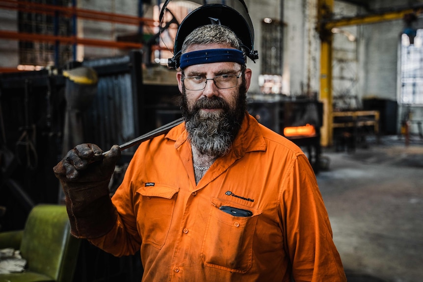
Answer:
POLYGON ((1 248, 21 251, 27 261, 22 273, 0 274, 0 282, 72 282, 80 240, 70 235, 64 205, 37 205, 28 215, 24 231, 0 232, 1 248), (4 240, 10 241, 9 246, 4 240), (16 248, 17 238, 21 239, 16 248))

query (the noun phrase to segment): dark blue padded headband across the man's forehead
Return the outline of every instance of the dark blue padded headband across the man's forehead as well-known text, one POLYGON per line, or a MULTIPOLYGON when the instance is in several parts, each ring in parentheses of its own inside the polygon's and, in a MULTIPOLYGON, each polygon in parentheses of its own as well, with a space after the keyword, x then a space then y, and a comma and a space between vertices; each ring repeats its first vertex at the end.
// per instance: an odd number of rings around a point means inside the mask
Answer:
POLYGON ((208 64, 217 62, 234 62, 245 64, 242 51, 237 49, 209 49, 187 52, 181 55, 181 69, 198 64, 208 64))

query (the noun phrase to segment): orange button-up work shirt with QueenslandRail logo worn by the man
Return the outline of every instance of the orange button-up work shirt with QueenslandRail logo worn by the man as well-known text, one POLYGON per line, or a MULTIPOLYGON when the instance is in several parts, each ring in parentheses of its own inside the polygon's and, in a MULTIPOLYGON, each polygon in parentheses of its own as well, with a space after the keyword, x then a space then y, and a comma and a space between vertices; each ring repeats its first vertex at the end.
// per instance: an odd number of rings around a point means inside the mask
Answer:
POLYGON ((142 143, 112 202, 114 228, 91 242, 140 250, 143 281, 346 281, 307 157, 250 115, 198 184, 185 123, 142 143))

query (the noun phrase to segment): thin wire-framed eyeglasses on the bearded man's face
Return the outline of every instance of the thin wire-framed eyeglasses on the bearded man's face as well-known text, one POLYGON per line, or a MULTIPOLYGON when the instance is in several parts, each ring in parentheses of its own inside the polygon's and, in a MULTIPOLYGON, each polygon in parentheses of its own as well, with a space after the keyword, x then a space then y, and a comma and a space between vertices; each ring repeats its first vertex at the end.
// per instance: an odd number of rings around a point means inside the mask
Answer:
POLYGON ((187 90, 203 90, 206 88, 207 80, 213 80, 214 85, 219 89, 228 89, 237 86, 238 78, 241 77, 242 71, 238 76, 236 75, 220 75, 213 78, 206 78, 202 76, 184 77, 181 81, 184 82, 185 89, 187 90))

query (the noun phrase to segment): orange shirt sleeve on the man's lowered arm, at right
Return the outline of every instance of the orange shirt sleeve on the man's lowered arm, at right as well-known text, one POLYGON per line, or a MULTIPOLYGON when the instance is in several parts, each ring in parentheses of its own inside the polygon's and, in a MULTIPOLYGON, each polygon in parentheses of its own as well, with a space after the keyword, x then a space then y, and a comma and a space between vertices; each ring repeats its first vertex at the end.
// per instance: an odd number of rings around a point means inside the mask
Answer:
POLYGON ((282 228, 296 282, 345 282, 329 217, 307 157, 298 155, 283 183, 282 228))

